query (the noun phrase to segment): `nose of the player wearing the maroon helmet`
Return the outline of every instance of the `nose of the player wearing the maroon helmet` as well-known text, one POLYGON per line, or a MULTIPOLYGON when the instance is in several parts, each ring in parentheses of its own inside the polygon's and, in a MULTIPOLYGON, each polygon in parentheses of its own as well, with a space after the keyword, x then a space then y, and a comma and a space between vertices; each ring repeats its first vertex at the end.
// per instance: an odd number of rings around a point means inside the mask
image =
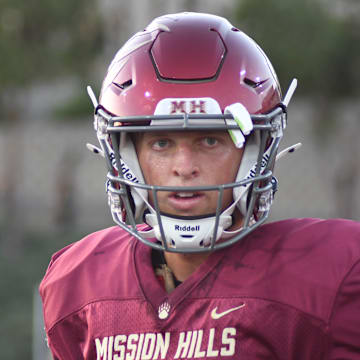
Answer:
POLYGON ((196 151, 190 145, 182 144, 178 146, 173 158, 173 174, 184 180, 197 177, 200 173, 197 158, 196 151))

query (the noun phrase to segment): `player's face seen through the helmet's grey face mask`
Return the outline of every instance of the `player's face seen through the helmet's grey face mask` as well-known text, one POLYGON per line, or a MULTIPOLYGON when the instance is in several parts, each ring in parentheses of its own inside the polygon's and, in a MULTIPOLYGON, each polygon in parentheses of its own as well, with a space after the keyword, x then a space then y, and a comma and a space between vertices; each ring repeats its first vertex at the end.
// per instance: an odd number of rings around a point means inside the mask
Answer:
MULTIPOLYGON (((235 181, 243 150, 227 132, 148 132, 135 137, 140 166, 149 185, 203 186, 235 181)), ((158 192, 162 212, 199 216, 216 211, 218 191, 158 192)), ((222 209, 232 203, 224 191, 222 209)), ((153 194, 149 193, 153 205, 153 194)))

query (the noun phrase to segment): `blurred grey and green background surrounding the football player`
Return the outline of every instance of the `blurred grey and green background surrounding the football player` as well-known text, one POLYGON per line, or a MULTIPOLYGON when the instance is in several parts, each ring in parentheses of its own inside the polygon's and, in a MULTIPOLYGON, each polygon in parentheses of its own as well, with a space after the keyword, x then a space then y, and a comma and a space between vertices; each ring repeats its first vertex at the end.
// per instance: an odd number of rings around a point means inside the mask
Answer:
POLYGON ((0 2, 0 349, 48 359, 37 286, 50 256, 112 226, 105 162, 86 86, 99 93, 113 55, 152 18, 227 17, 270 57, 289 107, 272 220, 360 219, 358 0, 2 0, 0 2))

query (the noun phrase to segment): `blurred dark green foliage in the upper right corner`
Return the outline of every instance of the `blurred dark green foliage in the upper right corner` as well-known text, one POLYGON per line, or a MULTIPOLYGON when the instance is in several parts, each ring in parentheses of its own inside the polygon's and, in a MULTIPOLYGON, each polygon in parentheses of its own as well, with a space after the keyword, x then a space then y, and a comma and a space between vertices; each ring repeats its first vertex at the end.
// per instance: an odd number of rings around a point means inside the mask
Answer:
POLYGON ((358 23, 330 12, 328 3, 243 0, 235 21, 269 55, 283 86, 297 77, 299 93, 330 99, 359 91, 360 31, 358 23))

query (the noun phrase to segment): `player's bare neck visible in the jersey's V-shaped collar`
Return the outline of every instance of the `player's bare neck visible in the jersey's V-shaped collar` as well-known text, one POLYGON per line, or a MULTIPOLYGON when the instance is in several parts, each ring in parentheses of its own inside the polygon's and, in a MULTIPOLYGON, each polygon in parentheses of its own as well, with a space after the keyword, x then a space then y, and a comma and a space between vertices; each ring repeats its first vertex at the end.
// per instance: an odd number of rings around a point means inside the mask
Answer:
POLYGON ((176 279, 183 282, 208 258, 210 253, 179 254, 165 252, 165 259, 176 279))

